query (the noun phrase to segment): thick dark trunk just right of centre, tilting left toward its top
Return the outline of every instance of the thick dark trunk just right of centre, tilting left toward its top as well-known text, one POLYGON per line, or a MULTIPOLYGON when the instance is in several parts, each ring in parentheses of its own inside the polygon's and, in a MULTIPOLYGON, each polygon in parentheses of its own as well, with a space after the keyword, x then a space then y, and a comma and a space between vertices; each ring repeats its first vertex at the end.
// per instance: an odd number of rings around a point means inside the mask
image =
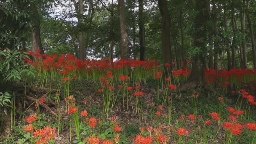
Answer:
POLYGON ((162 17, 162 48, 164 63, 172 64, 171 42, 170 42, 170 15, 167 7, 167 0, 158 0, 158 7, 162 17))

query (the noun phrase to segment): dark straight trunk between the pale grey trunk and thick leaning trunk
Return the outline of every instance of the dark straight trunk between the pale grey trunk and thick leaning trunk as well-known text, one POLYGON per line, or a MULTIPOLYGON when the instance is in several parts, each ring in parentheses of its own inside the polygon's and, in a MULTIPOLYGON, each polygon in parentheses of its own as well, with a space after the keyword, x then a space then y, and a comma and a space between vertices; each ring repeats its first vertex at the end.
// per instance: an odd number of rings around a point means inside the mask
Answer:
POLYGON ((145 60, 145 22, 144 22, 144 0, 139 0, 139 59, 145 60))

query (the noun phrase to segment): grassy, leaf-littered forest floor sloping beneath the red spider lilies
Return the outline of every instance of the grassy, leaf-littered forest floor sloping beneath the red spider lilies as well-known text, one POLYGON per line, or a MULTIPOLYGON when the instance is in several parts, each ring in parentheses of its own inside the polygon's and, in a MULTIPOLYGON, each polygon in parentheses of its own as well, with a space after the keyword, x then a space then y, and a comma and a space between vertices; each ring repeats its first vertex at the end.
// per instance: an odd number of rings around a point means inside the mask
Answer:
MULTIPOLYGON (((224 121, 232 121, 228 119, 228 116, 230 114, 227 109, 229 107, 235 108, 237 98, 240 95, 240 93, 238 92, 239 89, 237 89, 237 92, 234 93, 233 90, 223 91, 222 88, 216 88, 214 92, 210 95, 201 92, 200 89, 192 89, 184 92, 179 92, 179 89, 176 89, 176 91, 172 91, 170 95, 171 97, 169 97, 170 103, 161 107, 162 103, 157 102, 157 95, 159 95, 160 99, 163 99, 163 93, 165 93, 165 91, 163 91, 162 88, 157 88, 157 86, 155 85, 157 85, 157 82, 155 80, 148 80, 147 83, 142 82, 140 84, 140 91, 143 91, 144 94, 140 97, 139 100, 139 114, 136 114, 135 112, 135 96, 132 96, 131 94, 131 99, 128 99, 128 108, 126 105, 126 96, 124 99, 124 107, 122 104, 122 94, 119 94, 117 96, 117 103, 114 105, 112 113, 109 114, 108 117, 118 117, 117 125, 120 125, 122 128, 121 131, 118 131, 120 133, 119 144, 133 144, 134 142, 136 142, 136 136, 138 133, 141 133, 144 137, 149 135, 146 126, 153 126, 155 129, 160 128, 160 130, 155 131, 154 136, 152 136, 154 137, 155 144, 164 144, 167 141, 168 144, 247 144, 251 142, 251 139, 253 139, 253 133, 248 131, 246 128, 243 128, 243 130, 241 130, 241 133, 239 133, 238 135, 232 135, 232 137, 229 136, 230 133, 228 132, 228 130, 223 128, 224 121), (193 94, 197 93, 199 94, 199 96, 197 98, 193 97, 193 94), (219 97, 223 99, 223 102, 218 100, 219 97), (196 107, 194 107, 195 100, 197 101, 196 107), (157 112, 160 112, 160 115, 157 115, 157 112), (217 112, 219 114, 220 120, 214 120, 214 117, 211 117, 210 115, 210 113, 212 112, 217 112), (211 124, 207 125, 205 123, 206 120, 209 120, 211 124), (142 128, 144 128, 144 130, 142 128), (182 134, 181 137, 179 136, 178 128, 184 128, 187 131, 187 133, 184 133, 184 137, 182 137, 182 134), (166 140, 164 138, 160 138, 159 135, 164 136, 166 140)), ((98 138, 101 137, 101 139, 110 139, 112 142, 114 142, 114 136, 116 134, 114 131, 109 131, 111 125, 107 123, 108 119, 106 117, 106 114, 103 114, 103 99, 101 93, 97 92, 98 88, 101 88, 100 83, 90 80, 74 80, 70 84, 69 94, 72 94, 75 97, 75 105, 76 107, 78 107, 79 114, 80 111, 86 109, 88 111, 88 117, 95 117, 98 122, 104 123, 101 124, 101 126, 99 127, 96 126, 95 129, 91 128, 91 132, 88 131, 88 128, 85 128, 85 125, 80 124, 81 140, 75 139, 76 132, 74 125, 72 128, 72 140, 70 140, 70 123, 73 123, 73 121, 71 120, 71 114, 69 114, 67 109, 67 102, 62 97, 64 96, 62 90, 60 93, 61 99, 59 102, 59 109, 57 107, 57 103, 55 105, 52 104, 56 102, 56 91, 54 90, 56 90, 57 88, 51 88, 50 94, 49 91, 45 91, 45 89, 47 88, 29 87, 28 89, 37 89, 37 92, 27 93, 27 95, 32 95, 36 99, 40 99, 42 96, 45 97, 45 104, 50 107, 52 112, 57 115, 58 113, 60 114, 61 122, 59 126, 59 136, 56 135, 54 137, 54 144, 83 144, 88 142, 88 138, 90 136, 94 135, 98 136, 98 138)), ((249 88, 244 89, 249 91, 249 88)), ((243 116, 241 115, 235 115, 235 123, 241 123, 242 125, 245 125, 245 122, 255 122, 255 106, 251 106, 250 108, 248 108, 247 105, 245 105, 246 101, 243 101, 242 99, 242 102, 243 104, 240 109, 243 110, 245 118, 243 118, 243 116), (251 114, 248 118, 246 118, 247 116, 245 115, 245 107, 247 111, 251 114)), ((28 135, 28 133, 23 132, 24 125, 27 125, 26 118, 30 115, 37 113, 38 111, 35 107, 35 101, 26 100, 24 102, 24 105, 26 105, 25 108, 27 109, 23 108, 22 112, 16 112, 16 125, 14 128, 12 128, 11 135, 8 138, 1 137, 0 144, 26 144, 31 141, 32 136, 28 135)), ((51 112, 49 112, 48 109, 45 109, 42 106, 39 106, 39 108, 40 121, 37 121, 37 124, 35 123, 35 125, 37 125, 37 127, 39 126, 38 123, 41 123, 40 125, 42 127, 46 125, 51 125, 51 127, 56 128, 57 131, 58 117, 54 116, 51 112)), ((111 109, 111 107, 109 109, 111 109)), ((80 117, 79 123, 84 123, 82 119, 83 118, 80 117)), ((36 140, 34 140, 34 142, 35 141, 36 140)))

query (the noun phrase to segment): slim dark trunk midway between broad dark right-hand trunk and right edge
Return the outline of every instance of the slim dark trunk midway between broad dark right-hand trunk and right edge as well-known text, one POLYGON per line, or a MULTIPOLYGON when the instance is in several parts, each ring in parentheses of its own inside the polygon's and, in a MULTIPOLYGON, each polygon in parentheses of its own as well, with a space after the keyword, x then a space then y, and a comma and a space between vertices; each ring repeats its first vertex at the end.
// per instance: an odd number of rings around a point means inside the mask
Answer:
POLYGON ((224 11, 224 43, 226 46, 226 51, 227 51, 227 69, 231 69, 231 56, 230 56, 230 50, 229 50, 229 36, 227 35, 227 5, 226 5, 226 0, 223 0, 223 11, 224 11))

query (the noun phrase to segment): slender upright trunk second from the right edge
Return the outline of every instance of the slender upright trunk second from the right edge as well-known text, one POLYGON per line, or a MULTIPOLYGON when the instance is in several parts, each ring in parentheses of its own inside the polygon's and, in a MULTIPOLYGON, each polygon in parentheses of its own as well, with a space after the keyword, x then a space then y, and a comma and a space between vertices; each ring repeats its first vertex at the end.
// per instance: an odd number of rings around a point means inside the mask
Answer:
POLYGON ((245 0, 243 0, 243 5, 240 7, 240 23, 241 23, 241 33, 242 33, 242 54, 243 54, 243 64, 242 68, 247 68, 247 56, 246 56, 246 44, 245 44, 245 0))

